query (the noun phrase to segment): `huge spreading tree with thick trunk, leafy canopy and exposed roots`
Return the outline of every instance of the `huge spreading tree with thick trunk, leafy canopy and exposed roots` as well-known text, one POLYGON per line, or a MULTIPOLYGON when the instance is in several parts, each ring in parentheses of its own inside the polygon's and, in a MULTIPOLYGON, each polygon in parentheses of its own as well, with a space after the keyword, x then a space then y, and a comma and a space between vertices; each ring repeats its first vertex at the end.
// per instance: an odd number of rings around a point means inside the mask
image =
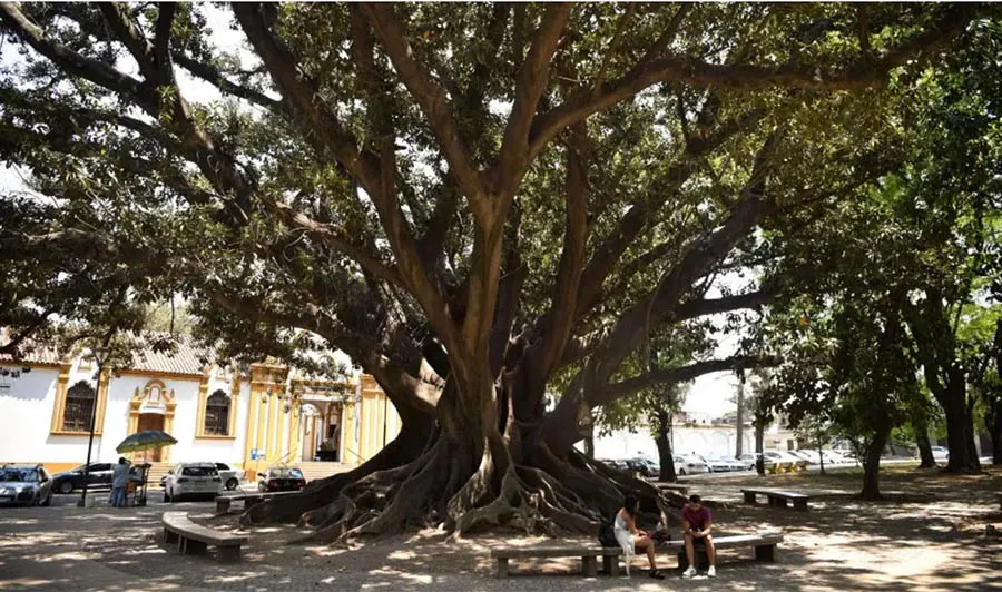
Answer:
POLYGON ((774 297, 783 278, 705 295, 762 228, 900 162, 886 85, 950 68, 988 10, 2 3, 0 156, 43 197, 4 196, 0 239, 61 254, 8 318, 46 312, 43 280, 79 259, 136 298, 184 294, 233 353, 347 353, 401 436, 248 519, 590 531, 626 491, 667 513, 573 452, 591 410, 747 362, 629 363, 774 297))

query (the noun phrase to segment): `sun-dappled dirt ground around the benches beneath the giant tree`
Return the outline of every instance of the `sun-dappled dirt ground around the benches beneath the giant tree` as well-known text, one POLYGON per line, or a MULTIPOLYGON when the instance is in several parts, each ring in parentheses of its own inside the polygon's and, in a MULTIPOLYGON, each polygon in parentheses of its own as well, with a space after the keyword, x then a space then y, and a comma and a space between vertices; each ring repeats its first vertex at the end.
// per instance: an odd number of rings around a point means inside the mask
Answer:
MULTIPOLYGON (((716 579, 680 580, 674 553, 660 555, 668 579, 580 575, 580 560, 517 561, 497 580, 490 549, 552 544, 514 532, 453 540, 428 530, 366 540, 351 547, 286 544, 292 526, 253 529, 244 562, 178 555, 161 542, 159 519, 180 510, 217 529, 237 530, 237 515, 213 516, 213 504, 153 504, 145 509, 22 509, 0 513, 0 590, 1002 590, 1002 470, 950 476, 887 468, 887 499, 861 502, 857 470, 758 477, 692 480, 690 492, 719 506, 715 533, 782 532, 775 563, 752 549, 719 553, 716 579), (808 512, 741 503, 746 485, 814 495, 808 512), (135 512, 132 511, 135 510, 135 512), (4 581, 6 580, 6 581, 4 581), (112 582, 112 585, 106 585, 112 582), (117 584, 117 585, 115 585, 117 584)), ((567 540, 566 543, 593 540, 567 540)), ((562 542, 558 542, 562 543, 562 542)))

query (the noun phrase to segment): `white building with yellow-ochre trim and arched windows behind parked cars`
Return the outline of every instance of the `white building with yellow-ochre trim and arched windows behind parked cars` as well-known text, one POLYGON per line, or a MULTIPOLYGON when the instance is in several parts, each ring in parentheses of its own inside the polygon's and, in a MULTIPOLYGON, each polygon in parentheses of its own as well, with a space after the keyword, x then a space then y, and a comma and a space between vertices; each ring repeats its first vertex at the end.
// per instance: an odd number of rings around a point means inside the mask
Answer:
POLYGON ((127 367, 97 379, 92 356, 38 347, 0 356, 0 464, 42 463, 51 472, 84 464, 94 417, 92 462, 115 462, 129 434, 163 430, 177 444, 134 460, 154 472, 178 461, 261 471, 318 457, 356 465, 400 431, 400 420, 367 375, 313 379, 276 364, 235 369, 206 363, 180 339, 173 354, 137 351, 127 367), (322 450, 332 448, 332 450, 322 450))

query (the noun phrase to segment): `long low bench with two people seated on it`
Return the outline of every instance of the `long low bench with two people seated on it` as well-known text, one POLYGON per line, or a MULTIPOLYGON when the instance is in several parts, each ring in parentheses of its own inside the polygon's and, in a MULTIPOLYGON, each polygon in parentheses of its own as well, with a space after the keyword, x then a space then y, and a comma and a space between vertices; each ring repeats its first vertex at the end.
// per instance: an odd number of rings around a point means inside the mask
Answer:
MULTIPOLYGON (((755 559, 759 561, 775 561, 776 545, 780 542, 783 542, 782 534, 770 533, 743 534, 714 539, 714 545, 717 549, 754 546, 755 559)), ((669 541, 658 545, 658 551, 667 549, 678 550, 679 565, 681 569, 685 569, 685 565, 688 565, 686 549, 682 541, 669 541), (685 563, 685 565, 682 565, 682 563, 685 563)), ((581 558, 581 574, 586 578, 595 578, 598 575, 598 558, 602 558, 602 570, 609 575, 617 575, 619 573, 620 556, 622 556, 622 549, 618 546, 600 545, 544 545, 491 550, 491 559, 497 562, 495 575, 498 578, 508 576, 508 565, 510 560, 544 558, 581 558)), ((697 562, 699 560, 697 560, 697 562)))

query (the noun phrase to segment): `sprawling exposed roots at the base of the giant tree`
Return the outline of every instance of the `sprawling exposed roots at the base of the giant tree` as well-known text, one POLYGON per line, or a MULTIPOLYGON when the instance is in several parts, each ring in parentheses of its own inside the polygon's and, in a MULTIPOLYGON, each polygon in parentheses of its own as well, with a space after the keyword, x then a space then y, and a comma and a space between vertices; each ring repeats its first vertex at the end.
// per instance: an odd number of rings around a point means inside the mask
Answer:
POLYGON ((642 525, 680 522, 677 509, 685 500, 675 492, 577 452, 558 457, 541 446, 534 466, 515 463, 505 444, 488 438, 474 467, 469 448, 439 438, 410 463, 340 485, 332 501, 302 513, 301 523, 314 531, 296 542, 344 542, 434 525, 460 536, 494 526, 592 535, 622 507, 627 493, 640 500, 642 525))

